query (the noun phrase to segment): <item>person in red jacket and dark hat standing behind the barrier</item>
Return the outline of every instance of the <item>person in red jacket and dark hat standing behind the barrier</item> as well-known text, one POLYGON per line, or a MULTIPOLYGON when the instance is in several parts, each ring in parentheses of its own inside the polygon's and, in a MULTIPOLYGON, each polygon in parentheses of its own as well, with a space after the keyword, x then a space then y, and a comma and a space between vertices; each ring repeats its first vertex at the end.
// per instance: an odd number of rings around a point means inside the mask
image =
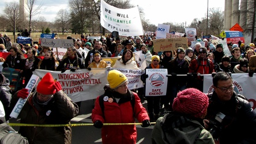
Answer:
MULTIPOLYGON (((212 74, 214 72, 214 65, 212 60, 207 58, 207 49, 206 47, 199 48, 199 56, 196 59, 193 59, 189 65, 189 73, 193 75, 197 74, 212 74)), ((192 81, 195 84, 194 88, 197 88, 203 91, 203 78, 197 77, 192 81)))

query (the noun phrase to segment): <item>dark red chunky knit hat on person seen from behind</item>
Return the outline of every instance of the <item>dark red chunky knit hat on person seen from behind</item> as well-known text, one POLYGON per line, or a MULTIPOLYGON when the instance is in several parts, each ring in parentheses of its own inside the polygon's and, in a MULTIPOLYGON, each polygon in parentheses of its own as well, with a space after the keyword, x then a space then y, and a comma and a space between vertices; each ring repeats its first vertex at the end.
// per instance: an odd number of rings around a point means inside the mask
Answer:
POLYGON ((189 88, 177 94, 172 104, 176 112, 189 114, 195 118, 201 118, 207 111, 209 98, 198 89, 189 88))

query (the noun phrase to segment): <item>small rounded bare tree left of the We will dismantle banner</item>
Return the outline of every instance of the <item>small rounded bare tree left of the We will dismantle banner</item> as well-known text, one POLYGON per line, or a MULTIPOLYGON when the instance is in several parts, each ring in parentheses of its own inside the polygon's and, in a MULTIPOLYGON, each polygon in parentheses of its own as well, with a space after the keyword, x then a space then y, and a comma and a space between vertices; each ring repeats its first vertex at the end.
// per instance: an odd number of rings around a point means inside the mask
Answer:
POLYGON ((56 19, 55 24, 57 24, 61 27, 62 35, 64 35, 64 31, 67 28, 67 24, 70 20, 69 12, 67 12, 67 10, 65 10, 65 9, 61 9, 57 13, 57 17, 55 19, 56 19))

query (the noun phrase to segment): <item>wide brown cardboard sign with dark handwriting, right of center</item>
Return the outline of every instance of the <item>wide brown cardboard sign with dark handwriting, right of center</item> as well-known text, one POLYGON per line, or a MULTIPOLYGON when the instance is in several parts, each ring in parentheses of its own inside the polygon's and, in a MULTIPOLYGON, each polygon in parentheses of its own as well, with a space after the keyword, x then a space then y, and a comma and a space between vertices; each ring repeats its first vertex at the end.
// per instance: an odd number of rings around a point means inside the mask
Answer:
POLYGON ((156 39, 154 42, 154 51, 174 51, 179 47, 187 48, 187 38, 156 39))

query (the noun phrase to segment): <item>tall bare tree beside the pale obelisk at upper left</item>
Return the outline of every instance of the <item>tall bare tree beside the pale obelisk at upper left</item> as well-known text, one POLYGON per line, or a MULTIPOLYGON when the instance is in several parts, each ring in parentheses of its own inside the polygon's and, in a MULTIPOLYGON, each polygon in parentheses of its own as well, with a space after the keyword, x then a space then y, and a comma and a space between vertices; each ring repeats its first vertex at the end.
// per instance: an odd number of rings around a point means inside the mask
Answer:
POLYGON ((39 0, 27 0, 25 1, 25 9, 28 11, 28 16, 29 16, 29 29, 31 29, 31 20, 33 16, 36 16, 37 14, 39 14, 41 12, 41 7, 43 5, 42 1, 40 2, 39 5, 37 5, 37 2, 39 2, 39 0))

